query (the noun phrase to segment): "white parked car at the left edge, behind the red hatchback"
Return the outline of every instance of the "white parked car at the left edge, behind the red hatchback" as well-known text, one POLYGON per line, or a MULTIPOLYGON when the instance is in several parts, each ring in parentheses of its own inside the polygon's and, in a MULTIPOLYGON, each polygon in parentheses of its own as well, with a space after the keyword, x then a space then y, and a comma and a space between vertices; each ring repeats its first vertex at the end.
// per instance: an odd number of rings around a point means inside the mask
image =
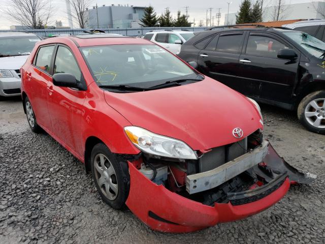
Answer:
POLYGON ((40 41, 24 32, 0 32, 0 97, 20 96, 20 67, 40 41))

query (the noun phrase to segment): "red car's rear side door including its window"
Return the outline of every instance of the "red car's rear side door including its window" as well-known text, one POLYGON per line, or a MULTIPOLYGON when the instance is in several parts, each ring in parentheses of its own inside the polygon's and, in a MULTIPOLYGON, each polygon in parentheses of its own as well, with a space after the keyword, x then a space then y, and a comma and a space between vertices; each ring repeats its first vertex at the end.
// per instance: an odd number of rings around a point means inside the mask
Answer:
POLYGON ((26 92, 35 112, 37 123, 46 129, 51 127, 47 106, 47 84, 52 82, 51 60, 55 45, 40 46, 33 63, 26 70, 26 92))

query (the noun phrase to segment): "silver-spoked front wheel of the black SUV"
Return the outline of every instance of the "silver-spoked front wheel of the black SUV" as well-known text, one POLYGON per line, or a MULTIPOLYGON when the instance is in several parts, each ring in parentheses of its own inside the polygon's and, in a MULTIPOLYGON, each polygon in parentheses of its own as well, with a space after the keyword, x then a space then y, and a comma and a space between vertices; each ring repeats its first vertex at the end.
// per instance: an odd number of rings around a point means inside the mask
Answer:
POLYGON ((308 130, 325 134, 325 90, 308 94, 301 100, 298 118, 308 130))

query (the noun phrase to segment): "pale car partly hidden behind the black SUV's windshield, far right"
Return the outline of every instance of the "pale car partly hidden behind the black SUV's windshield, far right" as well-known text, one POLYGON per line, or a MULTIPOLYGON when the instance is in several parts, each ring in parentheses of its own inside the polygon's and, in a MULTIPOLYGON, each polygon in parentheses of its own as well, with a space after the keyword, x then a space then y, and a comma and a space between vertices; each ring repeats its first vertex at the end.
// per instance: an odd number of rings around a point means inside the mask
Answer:
POLYGON ((310 19, 298 21, 292 24, 282 25, 286 28, 294 29, 295 31, 305 32, 316 37, 321 41, 325 41, 325 20, 324 19, 310 19))

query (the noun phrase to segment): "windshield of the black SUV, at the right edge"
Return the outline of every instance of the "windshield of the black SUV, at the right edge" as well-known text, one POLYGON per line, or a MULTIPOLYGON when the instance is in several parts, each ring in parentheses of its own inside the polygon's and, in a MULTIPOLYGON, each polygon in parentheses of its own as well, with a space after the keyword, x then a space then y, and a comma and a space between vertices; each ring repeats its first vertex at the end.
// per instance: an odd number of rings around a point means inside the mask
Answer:
POLYGON ((325 43, 304 32, 283 32, 311 55, 321 58, 325 53, 325 43))

